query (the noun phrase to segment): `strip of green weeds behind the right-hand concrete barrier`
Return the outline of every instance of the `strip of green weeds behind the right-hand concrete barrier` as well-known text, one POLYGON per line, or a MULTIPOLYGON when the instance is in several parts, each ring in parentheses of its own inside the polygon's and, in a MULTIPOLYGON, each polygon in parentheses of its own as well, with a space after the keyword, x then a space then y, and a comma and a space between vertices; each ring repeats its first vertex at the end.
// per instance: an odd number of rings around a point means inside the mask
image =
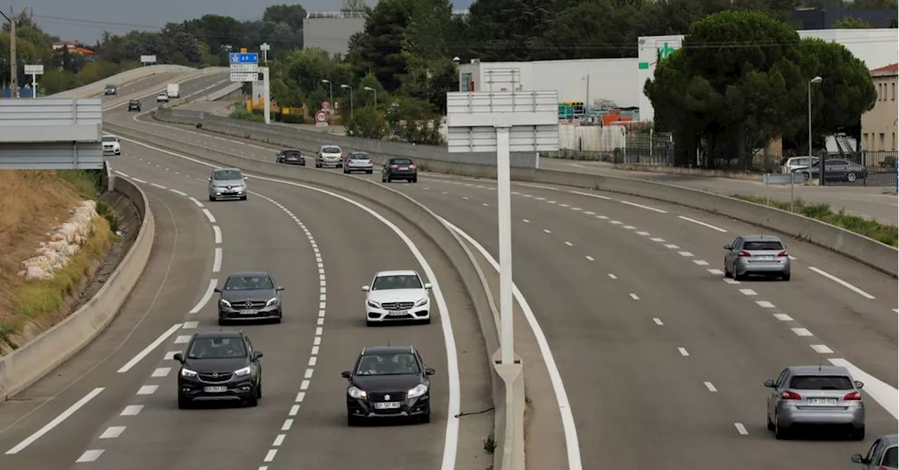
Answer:
MULTIPOLYGON (((732 197, 740 200, 748 200, 756 204, 761 204, 762 206, 767 205, 772 208, 790 211, 789 202, 780 200, 770 200, 769 202, 766 201, 765 198, 747 196, 744 194, 733 194, 732 197)), ((834 211, 829 204, 809 204, 801 199, 797 199, 793 203, 792 212, 845 228, 850 232, 865 235, 878 242, 899 248, 899 226, 881 224, 880 222, 877 222, 877 220, 867 217, 853 216, 842 209, 834 211)))

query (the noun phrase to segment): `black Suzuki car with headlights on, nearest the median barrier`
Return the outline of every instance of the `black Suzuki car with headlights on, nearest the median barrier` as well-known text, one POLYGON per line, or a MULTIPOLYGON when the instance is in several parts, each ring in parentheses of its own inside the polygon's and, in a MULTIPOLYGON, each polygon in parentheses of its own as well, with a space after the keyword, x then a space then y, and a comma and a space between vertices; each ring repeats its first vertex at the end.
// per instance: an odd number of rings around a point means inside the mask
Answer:
POLYGON ((365 348, 353 370, 341 373, 350 381, 346 389, 346 421, 409 418, 431 421, 431 377, 422 356, 412 346, 365 348))

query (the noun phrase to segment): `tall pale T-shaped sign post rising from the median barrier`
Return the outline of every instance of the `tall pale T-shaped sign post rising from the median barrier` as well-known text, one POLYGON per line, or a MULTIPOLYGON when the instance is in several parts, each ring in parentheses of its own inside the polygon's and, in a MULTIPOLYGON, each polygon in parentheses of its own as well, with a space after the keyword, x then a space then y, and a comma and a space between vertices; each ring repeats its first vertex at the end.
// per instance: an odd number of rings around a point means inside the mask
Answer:
POLYGON ((500 346, 513 365, 511 152, 558 150, 558 92, 447 93, 449 152, 496 152, 500 346))

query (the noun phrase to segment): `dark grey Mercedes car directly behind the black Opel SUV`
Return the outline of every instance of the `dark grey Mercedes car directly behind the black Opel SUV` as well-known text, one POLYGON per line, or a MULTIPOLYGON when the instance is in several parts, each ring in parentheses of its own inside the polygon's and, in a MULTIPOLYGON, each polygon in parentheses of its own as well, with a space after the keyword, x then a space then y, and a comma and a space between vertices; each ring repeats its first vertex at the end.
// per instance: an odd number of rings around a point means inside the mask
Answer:
POLYGON ((272 320, 280 324, 284 288, 263 271, 235 272, 217 288, 218 324, 248 320, 272 320))

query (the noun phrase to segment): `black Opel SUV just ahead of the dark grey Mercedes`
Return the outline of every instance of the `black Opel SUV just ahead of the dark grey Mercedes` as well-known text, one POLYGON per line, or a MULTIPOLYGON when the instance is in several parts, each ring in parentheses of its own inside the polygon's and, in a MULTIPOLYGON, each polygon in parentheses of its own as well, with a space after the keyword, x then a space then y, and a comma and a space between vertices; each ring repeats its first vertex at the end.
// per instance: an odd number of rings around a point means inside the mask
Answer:
POLYGON ((263 397, 262 351, 254 350, 244 332, 196 333, 186 355, 175 354, 178 370, 178 408, 194 400, 238 400, 256 406, 263 397))

